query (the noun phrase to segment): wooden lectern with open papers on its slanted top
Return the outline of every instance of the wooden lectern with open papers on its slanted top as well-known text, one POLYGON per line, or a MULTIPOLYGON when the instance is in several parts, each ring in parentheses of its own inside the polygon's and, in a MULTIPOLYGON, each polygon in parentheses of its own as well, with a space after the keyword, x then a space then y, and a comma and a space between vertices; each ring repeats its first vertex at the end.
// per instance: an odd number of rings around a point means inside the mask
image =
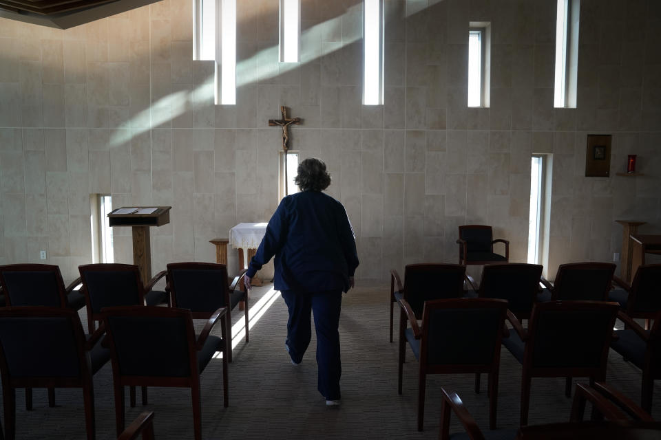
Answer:
POLYGON ((170 223, 171 206, 143 206, 117 208, 108 214, 110 226, 133 228, 133 263, 140 269, 143 283, 151 280, 151 242, 149 228, 170 223))

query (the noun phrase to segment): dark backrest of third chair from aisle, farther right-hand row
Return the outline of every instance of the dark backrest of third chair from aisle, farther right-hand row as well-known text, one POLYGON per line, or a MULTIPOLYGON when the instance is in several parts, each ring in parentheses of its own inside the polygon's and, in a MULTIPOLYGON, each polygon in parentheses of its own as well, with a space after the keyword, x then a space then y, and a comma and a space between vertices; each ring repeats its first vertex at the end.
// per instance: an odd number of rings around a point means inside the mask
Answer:
POLYGON ((613 263, 569 263, 558 267, 552 300, 608 300, 613 263))

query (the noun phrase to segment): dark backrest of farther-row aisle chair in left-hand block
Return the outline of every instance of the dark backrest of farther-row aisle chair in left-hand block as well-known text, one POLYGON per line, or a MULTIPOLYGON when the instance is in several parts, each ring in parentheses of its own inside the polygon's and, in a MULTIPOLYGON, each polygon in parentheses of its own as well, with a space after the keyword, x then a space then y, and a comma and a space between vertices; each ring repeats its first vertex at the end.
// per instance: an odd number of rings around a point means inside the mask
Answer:
POLYGON ((189 309, 193 318, 207 318, 230 307, 227 267, 214 263, 170 263, 167 277, 172 307, 189 309))

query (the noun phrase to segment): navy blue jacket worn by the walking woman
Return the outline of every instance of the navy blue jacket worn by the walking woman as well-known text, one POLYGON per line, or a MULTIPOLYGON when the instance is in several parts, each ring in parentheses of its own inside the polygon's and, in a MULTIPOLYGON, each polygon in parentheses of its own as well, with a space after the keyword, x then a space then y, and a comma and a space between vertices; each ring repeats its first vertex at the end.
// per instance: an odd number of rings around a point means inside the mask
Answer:
POLYGON ((358 254, 342 203, 319 191, 284 197, 266 226, 246 276, 255 276, 274 255, 275 289, 346 292, 348 277, 358 267, 358 254))

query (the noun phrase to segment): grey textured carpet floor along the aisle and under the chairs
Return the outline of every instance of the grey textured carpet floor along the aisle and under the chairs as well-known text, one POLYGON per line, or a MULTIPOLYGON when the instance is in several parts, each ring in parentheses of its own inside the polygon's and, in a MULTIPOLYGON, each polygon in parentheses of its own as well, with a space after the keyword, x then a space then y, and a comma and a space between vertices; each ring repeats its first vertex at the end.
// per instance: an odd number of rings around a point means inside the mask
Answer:
MULTIPOLYGON (((271 287, 253 289, 251 307, 264 294, 273 294, 271 287)), ((286 305, 275 295, 271 307, 254 322, 251 342, 246 345, 241 340, 234 349, 229 408, 222 406, 221 360, 212 360, 202 373, 204 439, 436 439, 441 386, 457 391, 479 426, 487 428, 485 376, 482 392, 476 395, 472 375, 432 375, 427 384, 425 431, 417 432, 417 362, 408 352, 404 392, 397 395, 397 342, 388 342, 386 285, 360 285, 344 296, 340 319, 342 406, 327 408, 317 392, 315 338, 303 362, 293 366, 284 349, 286 305)), ((253 311, 251 315, 257 314, 253 311)), ((235 311, 233 321, 242 322, 242 312, 235 311)), ((613 386, 640 400, 640 371, 617 353, 609 354, 607 377, 613 386)), ((521 366, 503 349, 498 402, 501 428, 517 426, 520 381, 521 366)), ((530 423, 568 421, 571 399, 564 397, 564 384, 562 378, 533 380, 530 423)), ((115 439, 110 363, 94 376, 94 393, 97 439, 115 439)), ((653 416, 661 419, 661 381, 655 386, 655 398, 653 416)), ((24 394, 17 392, 17 439, 85 438, 81 391, 58 389, 56 399, 58 406, 48 408, 46 391, 35 390, 34 410, 27 412, 24 394)), ((146 407, 129 408, 127 398, 127 423, 143 410, 155 412, 156 439, 193 437, 187 389, 149 388, 146 407)), ((460 429, 457 423, 453 427, 452 432, 460 429)))

